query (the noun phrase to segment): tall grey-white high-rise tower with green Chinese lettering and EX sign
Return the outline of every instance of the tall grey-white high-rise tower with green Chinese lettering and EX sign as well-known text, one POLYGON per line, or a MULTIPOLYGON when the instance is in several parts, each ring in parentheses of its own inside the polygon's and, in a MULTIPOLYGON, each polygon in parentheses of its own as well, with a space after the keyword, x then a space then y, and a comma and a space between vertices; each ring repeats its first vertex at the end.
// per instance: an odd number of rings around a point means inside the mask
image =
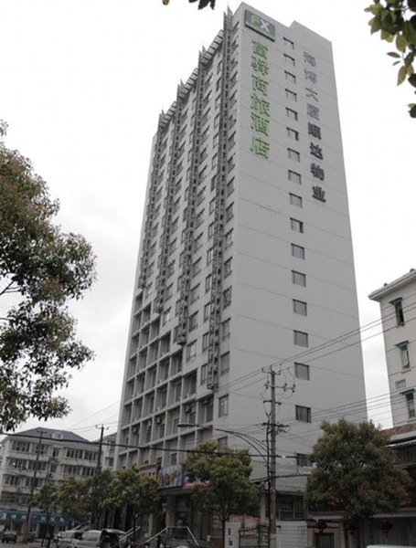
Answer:
POLYGON ((367 416, 331 45, 242 4, 159 118, 118 465, 264 440, 271 368, 300 466, 322 419, 367 416))

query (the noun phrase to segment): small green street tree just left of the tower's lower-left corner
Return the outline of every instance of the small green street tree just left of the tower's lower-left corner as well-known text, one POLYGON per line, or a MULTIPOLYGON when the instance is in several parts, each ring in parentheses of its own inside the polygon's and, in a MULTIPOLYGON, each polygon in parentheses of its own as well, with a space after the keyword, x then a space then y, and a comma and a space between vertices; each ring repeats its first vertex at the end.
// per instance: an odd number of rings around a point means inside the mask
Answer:
POLYGON ((69 476, 59 484, 58 504, 63 515, 67 516, 72 524, 88 522, 87 490, 85 479, 76 479, 74 476, 69 476))

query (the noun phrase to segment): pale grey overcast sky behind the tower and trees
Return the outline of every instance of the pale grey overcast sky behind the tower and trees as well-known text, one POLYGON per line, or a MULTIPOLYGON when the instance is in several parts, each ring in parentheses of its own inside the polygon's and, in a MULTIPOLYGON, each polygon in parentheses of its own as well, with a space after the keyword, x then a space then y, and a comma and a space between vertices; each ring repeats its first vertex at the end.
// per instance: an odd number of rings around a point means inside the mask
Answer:
MULTIPOLYGON (((363 325, 379 320, 368 293, 415 267, 416 121, 409 85, 396 86, 391 49, 370 37, 368 2, 252 0, 284 25, 293 20, 332 41, 358 305, 363 325)), ((240 5, 229 0, 235 11, 240 5)), ((73 307, 96 359, 74 374, 72 412, 46 427, 98 437, 116 428, 133 276, 152 137, 159 112, 222 26, 215 11, 187 0, 0 0, 0 119, 6 143, 31 158, 61 205, 65 231, 87 237, 98 282, 73 307)), ((379 326, 363 342, 370 416, 388 425, 388 387, 379 326), (383 397, 378 398, 382 395, 383 397)), ((24 427, 34 427, 30 421, 24 427)))

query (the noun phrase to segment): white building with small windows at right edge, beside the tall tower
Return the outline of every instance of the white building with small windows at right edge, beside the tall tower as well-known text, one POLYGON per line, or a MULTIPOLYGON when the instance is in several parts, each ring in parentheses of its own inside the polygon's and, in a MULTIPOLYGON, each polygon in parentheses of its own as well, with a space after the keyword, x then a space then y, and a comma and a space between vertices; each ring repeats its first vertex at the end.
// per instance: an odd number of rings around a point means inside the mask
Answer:
POLYGON ((385 283, 369 298, 379 302, 393 427, 416 420, 416 271, 385 283))

